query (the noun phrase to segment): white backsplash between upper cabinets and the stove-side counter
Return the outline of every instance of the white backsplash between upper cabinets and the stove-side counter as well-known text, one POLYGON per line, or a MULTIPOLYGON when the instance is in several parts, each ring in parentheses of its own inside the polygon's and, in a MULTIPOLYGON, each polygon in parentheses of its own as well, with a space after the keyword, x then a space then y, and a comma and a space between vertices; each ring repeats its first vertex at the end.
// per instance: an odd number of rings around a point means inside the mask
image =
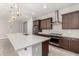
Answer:
POLYGON ((78 29, 62 29, 62 25, 54 25, 53 29, 51 30, 42 30, 41 33, 44 34, 50 34, 50 33, 61 33, 62 35, 65 36, 79 36, 79 30, 78 29))

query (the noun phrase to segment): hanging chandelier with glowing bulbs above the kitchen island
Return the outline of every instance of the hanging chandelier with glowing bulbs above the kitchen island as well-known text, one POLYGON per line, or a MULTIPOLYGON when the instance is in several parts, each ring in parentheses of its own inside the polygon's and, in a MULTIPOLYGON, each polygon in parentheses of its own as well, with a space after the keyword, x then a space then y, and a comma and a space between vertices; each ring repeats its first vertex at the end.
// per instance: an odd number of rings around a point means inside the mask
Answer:
POLYGON ((20 8, 18 4, 13 4, 12 6, 9 7, 9 12, 10 12, 10 16, 9 16, 9 23, 15 22, 17 17, 20 16, 20 8))

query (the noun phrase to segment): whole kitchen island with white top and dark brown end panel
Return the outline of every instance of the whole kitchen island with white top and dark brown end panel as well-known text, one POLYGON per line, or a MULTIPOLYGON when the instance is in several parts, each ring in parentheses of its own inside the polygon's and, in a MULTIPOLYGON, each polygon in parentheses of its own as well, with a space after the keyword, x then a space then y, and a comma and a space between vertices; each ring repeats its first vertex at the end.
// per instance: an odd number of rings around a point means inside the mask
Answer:
POLYGON ((49 52, 49 39, 37 35, 24 35, 22 33, 7 34, 15 51, 20 56, 47 56, 49 52))

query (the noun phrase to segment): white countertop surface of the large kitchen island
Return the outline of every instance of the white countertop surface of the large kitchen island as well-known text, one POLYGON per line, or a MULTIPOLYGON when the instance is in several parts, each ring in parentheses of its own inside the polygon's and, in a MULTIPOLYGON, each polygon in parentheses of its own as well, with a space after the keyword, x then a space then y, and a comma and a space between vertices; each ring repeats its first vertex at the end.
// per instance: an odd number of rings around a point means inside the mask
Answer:
POLYGON ((15 50, 23 49, 37 43, 49 40, 47 37, 37 35, 23 35, 22 33, 7 34, 15 50))

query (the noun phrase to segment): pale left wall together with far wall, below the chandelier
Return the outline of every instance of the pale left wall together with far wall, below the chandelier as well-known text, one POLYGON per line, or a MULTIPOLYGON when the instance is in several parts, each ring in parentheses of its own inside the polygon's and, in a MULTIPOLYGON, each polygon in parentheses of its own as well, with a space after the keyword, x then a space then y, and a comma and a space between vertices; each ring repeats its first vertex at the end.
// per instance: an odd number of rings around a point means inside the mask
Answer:
POLYGON ((0 19, 0 39, 7 38, 7 33, 21 33, 22 24, 21 21, 8 23, 5 19, 0 19))

